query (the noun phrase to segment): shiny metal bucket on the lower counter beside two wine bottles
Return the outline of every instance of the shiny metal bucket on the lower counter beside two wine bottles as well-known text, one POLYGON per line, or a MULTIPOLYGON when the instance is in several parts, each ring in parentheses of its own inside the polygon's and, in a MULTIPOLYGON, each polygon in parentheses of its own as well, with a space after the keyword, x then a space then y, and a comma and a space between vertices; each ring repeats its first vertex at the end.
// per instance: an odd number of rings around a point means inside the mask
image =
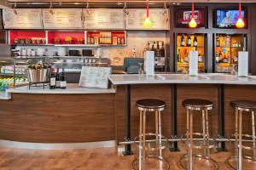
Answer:
POLYGON ((49 69, 27 69, 28 82, 48 82, 49 69))

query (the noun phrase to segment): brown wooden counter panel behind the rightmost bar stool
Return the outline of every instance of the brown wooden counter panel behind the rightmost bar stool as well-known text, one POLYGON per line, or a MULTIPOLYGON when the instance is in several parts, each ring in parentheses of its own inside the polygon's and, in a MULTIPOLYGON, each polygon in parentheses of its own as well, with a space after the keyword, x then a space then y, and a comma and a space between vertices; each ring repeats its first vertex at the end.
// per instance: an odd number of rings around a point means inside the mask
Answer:
MULTIPOLYGON (((230 106, 230 101, 245 99, 256 101, 255 86, 225 85, 224 86, 224 112, 225 112, 225 134, 230 136, 235 133, 235 110, 230 106)), ((248 113, 248 112, 247 112, 248 113)), ((242 127, 244 133, 252 132, 251 114, 243 114, 242 127)))

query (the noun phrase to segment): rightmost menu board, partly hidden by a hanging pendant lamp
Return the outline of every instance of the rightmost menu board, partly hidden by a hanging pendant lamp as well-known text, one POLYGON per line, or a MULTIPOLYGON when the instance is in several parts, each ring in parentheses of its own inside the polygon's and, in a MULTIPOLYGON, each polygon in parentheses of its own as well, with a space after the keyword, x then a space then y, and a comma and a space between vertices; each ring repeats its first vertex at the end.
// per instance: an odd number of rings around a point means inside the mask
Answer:
POLYGON ((152 25, 145 27, 143 22, 147 18, 146 9, 129 9, 129 14, 125 16, 125 26, 127 30, 168 30, 168 15, 168 9, 149 9, 149 19, 152 25))

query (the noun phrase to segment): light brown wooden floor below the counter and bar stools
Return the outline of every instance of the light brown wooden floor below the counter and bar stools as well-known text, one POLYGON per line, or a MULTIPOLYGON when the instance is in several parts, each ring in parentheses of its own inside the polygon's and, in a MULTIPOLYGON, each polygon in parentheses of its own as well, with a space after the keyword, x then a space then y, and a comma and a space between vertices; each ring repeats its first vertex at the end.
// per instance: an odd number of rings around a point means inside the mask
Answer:
MULTIPOLYGON (((178 160, 184 151, 165 151, 171 170, 182 169, 178 160)), ((212 153, 220 170, 232 169, 225 163, 230 152, 212 153)), ((114 148, 89 150, 25 150, 0 147, 0 170, 130 170, 135 156, 119 156, 114 148)), ((195 169, 212 169, 195 161, 195 169)), ((152 168, 155 169, 155 168, 152 168)), ((256 169, 256 163, 245 162, 244 170, 256 169)))

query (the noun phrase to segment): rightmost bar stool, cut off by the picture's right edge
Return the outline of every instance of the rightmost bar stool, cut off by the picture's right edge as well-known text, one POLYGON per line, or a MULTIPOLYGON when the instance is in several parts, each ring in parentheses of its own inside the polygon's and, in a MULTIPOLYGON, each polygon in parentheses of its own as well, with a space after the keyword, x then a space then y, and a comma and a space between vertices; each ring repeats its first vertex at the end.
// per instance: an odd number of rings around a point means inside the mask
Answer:
POLYGON ((241 151, 242 149, 246 150, 253 150, 253 156, 243 156, 244 159, 251 160, 251 161, 256 161, 256 136, 255 136, 255 111, 256 111, 256 102, 253 101, 247 101, 247 100, 235 100, 231 101, 230 105, 233 109, 236 110, 236 132, 235 132, 235 145, 238 150, 238 156, 237 156, 237 150, 236 150, 236 156, 230 156, 228 158, 228 163, 230 167, 233 167, 235 169, 241 170, 242 168, 242 154, 241 151), (242 133, 242 114, 243 113, 249 113, 251 112, 252 114, 252 132, 253 134, 244 134, 242 133), (243 145, 243 141, 247 141, 243 139, 245 138, 251 138, 253 142, 253 146, 246 146, 243 145), (238 143, 238 144, 237 144, 238 143), (230 160, 233 158, 238 157, 238 162, 237 162, 237 167, 234 167, 230 164, 230 160))

